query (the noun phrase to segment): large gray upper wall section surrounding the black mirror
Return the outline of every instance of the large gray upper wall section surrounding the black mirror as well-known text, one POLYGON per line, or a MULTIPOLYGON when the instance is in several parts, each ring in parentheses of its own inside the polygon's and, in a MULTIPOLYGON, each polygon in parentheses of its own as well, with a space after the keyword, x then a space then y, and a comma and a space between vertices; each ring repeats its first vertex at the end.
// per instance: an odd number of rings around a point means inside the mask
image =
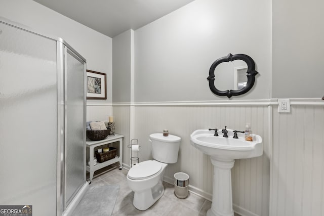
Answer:
MULTIPOLYGON (((135 31, 135 102, 228 100, 214 95, 211 64, 229 53, 251 56, 252 91, 270 98, 271 2, 196 0, 135 31)), ((230 71, 229 73, 232 73, 230 71)))

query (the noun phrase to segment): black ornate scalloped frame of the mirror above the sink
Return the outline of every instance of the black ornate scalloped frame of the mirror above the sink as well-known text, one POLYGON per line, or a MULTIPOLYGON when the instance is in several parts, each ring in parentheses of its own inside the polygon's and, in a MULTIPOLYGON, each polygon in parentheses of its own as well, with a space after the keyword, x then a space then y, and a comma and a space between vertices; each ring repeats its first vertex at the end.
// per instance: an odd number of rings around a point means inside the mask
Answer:
POLYGON ((253 59, 245 54, 228 54, 228 56, 226 57, 222 57, 217 59, 211 66, 211 68, 209 69, 209 76, 208 76, 208 80, 209 80, 209 88, 211 89, 211 91, 219 96, 227 96, 228 98, 232 97, 232 96, 236 96, 236 95, 242 95, 247 93, 254 84, 255 81, 255 75, 258 74, 258 71, 255 70, 255 64, 253 59), (238 88, 237 90, 225 90, 225 91, 220 91, 215 87, 215 69, 216 67, 223 63, 223 62, 232 62, 235 60, 241 60, 244 61, 247 64, 247 82, 242 84, 238 82, 238 88))

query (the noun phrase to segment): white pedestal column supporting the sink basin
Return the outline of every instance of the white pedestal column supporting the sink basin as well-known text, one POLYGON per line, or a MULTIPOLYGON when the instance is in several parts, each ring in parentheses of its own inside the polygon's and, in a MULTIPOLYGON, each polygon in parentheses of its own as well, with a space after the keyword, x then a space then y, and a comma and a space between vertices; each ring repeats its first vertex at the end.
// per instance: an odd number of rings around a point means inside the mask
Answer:
POLYGON ((211 156, 211 161, 214 165, 213 202, 207 216, 234 216, 231 182, 234 160, 211 156))

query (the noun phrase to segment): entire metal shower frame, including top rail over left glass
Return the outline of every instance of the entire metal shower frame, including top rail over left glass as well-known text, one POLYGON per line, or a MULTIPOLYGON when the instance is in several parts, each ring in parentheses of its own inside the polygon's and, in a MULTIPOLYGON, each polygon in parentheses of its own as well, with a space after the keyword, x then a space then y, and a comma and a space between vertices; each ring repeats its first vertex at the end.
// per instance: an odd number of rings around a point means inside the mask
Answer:
POLYGON ((71 46, 67 44, 60 37, 51 36, 42 32, 35 31, 34 29, 30 29, 27 26, 24 26, 20 23, 16 23, 14 21, 8 20, 4 17, 0 17, 0 23, 12 26, 14 28, 36 34, 50 40, 56 41, 56 52, 57 52, 57 188, 56 188, 56 215, 57 216, 67 216, 71 215, 74 208, 82 199, 83 195, 86 193, 89 184, 86 181, 86 113, 87 113, 87 97, 86 97, 86 70, 87 70, 87 61, 84 57, 82 57, 79 53, 77 53, 71 46), (84 125, 83 125, 83 141, 84 141, 84 153, 83 153, 83 161, 84 161, 84 177, 83 177, 83 185, 79 186, 76 192, 72 195, 71 201, 65 206, 65 152, 66 152, 66 53, 69 53, 78 61, 83 63, 83 80, 84 80, 84 125))

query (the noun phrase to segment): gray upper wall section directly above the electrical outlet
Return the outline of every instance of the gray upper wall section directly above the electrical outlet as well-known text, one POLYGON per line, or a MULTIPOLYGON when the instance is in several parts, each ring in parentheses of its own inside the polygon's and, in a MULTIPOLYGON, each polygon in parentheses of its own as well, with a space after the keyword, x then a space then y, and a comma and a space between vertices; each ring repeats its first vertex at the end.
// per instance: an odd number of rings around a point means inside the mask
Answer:
POLYGON ((272 1, 272 98, 324 95, 324 2, 272 1))

